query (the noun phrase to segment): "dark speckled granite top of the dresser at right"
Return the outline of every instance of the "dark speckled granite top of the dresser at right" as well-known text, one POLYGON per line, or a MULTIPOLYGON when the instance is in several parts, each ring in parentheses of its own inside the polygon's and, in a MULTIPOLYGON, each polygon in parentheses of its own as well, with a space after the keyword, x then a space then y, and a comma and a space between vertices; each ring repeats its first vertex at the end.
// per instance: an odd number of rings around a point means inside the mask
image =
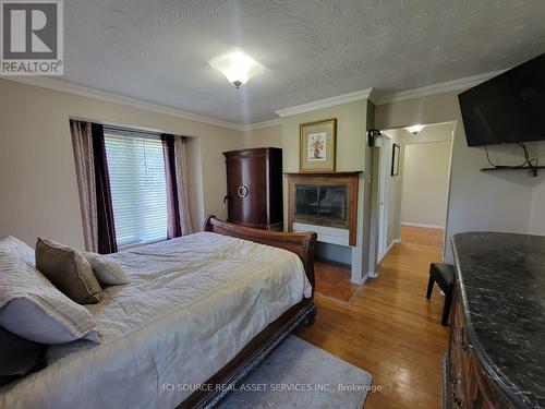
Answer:
POLYGON ((545 408, 545 237, 456 234, 464 334, 517 407, 545 408))

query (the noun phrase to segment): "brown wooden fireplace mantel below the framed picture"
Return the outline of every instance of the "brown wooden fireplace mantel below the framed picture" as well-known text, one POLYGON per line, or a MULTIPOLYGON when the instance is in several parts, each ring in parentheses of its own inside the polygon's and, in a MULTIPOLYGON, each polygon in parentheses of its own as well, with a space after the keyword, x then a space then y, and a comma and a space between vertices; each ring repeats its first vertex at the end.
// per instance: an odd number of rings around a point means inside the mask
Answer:
MULTIPOLYGON (((348 242, 344 242, 344 245, 356 245, 356 228, 358 228, 358 179, 359 175, 362 173, 361 171, 349 171, 349 172, 286 172, 284 175, 288 178, 288 230, 292 231, 293 230, 293 224, 296 221, 298 224, 306 224, 311 226, 316 226, 316 230, 323 230, 329 229, 329 231, 335 230, 337 231, 336 234, 347 234, 348 232, 348 242), (346 203, 347 203, 347 212, 344 213, 346 216, 344 222, 347 222, 342 228, 329 228, 328 226, 334 226, 335 224, 331 224, 331 217, 329 217, 329 220, 325 220, 325 218, 320 218, 317 216, 311 216, 313 218, 313 221, 300 221, 301 219, 301 214, 296 215, 295 208, 295 191, 296 191, 296 185, 308 185, 308 184, 316 184, 319 187, 338 187, 338 185, 346 185, 346 203), (348 220, 347 220, 348 219, 348 220), (347 231, 348 230, 348 231, 347 231)), ((322 200, 319 200, 318 206, 320 206, 322 200)), ((329 207, 330 208, 330 207, 329 207)), ((306 217, 306 215, 304 216, 306 217)), ((336 221, 338 219, 335 219, 336 221)), ((319 231, 318 232, 318 241, 320 239, 319 231)), ((327 234, 326 234, 327 236, 327 234)), ((326 237, 324 236, 324 237, 326 237)), ((344 239, 347 240, 347 236, 344 236, 344 239)), ((326 240, 324 240, 326 241, 326 240)), ((326 241, 328 242, 328 241, 326 241)), ((332 241, 335 242, 335 241, 332 241)))

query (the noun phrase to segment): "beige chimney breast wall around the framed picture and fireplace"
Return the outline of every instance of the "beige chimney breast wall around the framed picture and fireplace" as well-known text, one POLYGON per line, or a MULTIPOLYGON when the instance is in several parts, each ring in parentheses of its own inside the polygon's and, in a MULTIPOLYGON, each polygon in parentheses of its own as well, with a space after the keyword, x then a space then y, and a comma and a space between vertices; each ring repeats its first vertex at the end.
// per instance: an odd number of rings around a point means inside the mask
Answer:
MULTIPOLYGON (((282 119, 282 163, 284 172, 299 172, 299 145, 300 133, 299 125, 304 122, 317 121, 320 119, 337 118, 337 144, 336 158, 337 171, 365 170, 361 173, 359 181, 358 197, 358 238, 356 246, 352 250, 352 279, 359 281, 367 274, 368 255, 364 249, 368 249, 364 243, 365 228, 368 224, 364 222, 365 201, 371 200, 370 179, 366 178, 371 161, 366 160, 366 129, 367 129, 367 109, 366 100, 342 104, 336 107, 318 109, 312 112, 304 112, 282 119)), ((284 183, 284 188, 286 188, 284 183)), ((284 189, 284 225, 288 222, 287 210, 288 193, 284 189)))

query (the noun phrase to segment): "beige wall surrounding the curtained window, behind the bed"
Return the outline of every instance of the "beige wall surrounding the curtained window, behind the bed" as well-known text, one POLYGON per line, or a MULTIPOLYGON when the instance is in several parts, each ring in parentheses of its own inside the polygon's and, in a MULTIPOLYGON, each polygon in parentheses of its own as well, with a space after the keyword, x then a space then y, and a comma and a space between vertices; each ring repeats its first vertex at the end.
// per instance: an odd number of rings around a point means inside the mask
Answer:
POLYGON ((221 215, 221 153, 240 148, 239 131, 0 80, 0 237, 34 245, 39 234, 83 248, 69 118, 142 127, 192 136, 190 203, 199 227, 221 215))

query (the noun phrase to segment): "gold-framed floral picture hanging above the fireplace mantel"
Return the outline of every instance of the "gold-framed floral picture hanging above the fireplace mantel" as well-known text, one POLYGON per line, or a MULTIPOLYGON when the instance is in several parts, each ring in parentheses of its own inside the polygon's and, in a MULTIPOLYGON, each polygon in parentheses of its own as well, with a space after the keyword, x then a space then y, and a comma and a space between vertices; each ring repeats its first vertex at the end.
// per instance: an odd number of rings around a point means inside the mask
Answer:
POLYGON ((301 123, 300 160, 301 172, 335 171, 335 140, 337 119, 301 123))

